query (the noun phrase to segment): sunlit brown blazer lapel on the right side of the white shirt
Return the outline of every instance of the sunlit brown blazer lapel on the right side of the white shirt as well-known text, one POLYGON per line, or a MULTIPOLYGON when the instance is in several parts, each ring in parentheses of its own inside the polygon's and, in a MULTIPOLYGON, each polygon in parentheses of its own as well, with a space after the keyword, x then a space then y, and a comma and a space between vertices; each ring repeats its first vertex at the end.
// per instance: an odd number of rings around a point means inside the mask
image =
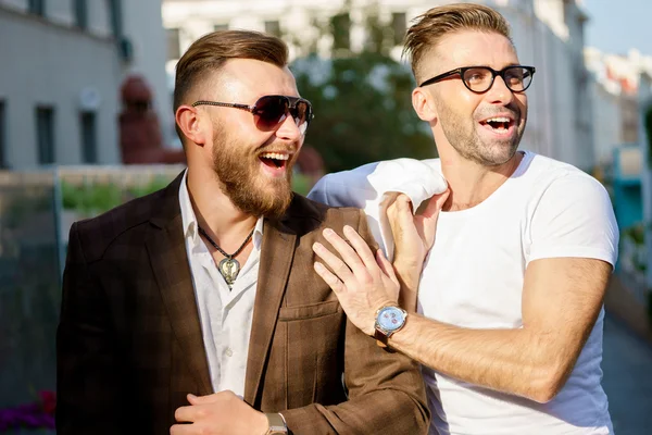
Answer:
POLYGON ((278 310, 294 256, 297 235, 278 221, 265 220, 261 264, 249 340, 244 401, 255 403, 278 310))

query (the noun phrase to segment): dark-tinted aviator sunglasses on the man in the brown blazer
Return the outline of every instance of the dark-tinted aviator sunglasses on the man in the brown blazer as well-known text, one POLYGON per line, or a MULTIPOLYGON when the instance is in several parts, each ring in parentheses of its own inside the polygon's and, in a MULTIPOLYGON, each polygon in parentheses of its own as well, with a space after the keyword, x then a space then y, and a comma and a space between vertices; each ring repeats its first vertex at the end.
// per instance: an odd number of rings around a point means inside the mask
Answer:
POLYGON ((259 98, 253 105, 202 100, 192 103, 193 108, 197 105, 218 105, 246 110, 253 114, 255 126, 263 132, 278 128, 289 113, 294 119, 301 134, 304 134, 310 121, 314 117, 310 101, 298 97, 264 96, 259 98))

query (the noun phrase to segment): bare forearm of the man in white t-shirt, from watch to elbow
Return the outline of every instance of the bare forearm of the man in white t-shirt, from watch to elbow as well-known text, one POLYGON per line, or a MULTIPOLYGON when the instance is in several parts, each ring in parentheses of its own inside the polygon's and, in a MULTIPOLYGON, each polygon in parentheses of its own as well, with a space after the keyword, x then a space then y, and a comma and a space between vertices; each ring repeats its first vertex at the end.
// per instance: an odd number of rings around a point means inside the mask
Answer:
POLYGON ((471 330, 411 314, 390 346, 448 376, 548 401, 563 384, 564 352, 552 337, 518 330, 471 330))

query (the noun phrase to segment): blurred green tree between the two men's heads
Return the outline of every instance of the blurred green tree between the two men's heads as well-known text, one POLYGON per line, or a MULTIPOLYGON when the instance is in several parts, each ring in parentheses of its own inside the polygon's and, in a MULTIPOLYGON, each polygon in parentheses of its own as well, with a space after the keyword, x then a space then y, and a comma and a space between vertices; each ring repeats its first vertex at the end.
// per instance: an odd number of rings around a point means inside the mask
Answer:
MULTIPOLYGON (((356 11, 359 12, 359 11, 356 11)), ((351 48, 351 8, 328 20, 314 20, 301 39, 289 36, 300 57, 290 65, 299 91, 315 110, 305 139, 324 158, 327 172, 411 157, 437 156, 431 133, 412 109, 415 84, 410 67, 394 61, 397 39, 391 23, 379 18, 377 7, 363 12, 365 44, 351 48), (319 57, 323 41, 328 57, 319 57)))

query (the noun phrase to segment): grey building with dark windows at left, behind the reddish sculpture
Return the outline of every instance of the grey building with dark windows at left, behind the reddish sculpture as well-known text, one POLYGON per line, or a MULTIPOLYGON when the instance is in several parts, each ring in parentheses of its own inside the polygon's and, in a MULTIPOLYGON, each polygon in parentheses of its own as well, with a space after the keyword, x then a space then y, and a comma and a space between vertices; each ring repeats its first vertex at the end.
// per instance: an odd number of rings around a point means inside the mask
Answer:
POLYGON ((127 75, 172 111, 164 35, 161 0, 0 0, 0 166, 118 163, 127 75))

